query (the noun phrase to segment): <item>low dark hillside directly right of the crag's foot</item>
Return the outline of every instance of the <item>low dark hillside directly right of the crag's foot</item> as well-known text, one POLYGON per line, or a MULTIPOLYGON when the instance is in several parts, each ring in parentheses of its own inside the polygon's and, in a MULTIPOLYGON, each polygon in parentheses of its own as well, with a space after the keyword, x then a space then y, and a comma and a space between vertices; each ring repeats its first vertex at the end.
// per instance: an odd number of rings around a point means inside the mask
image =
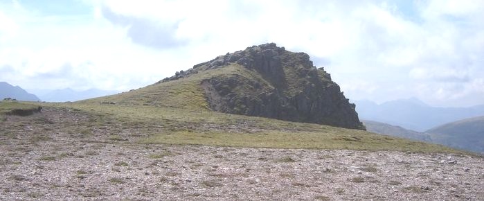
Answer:
POLYGON ((369 132, 378 134, 391 135, 394 137, 402 137, 406 139, 414 139, 418 141, 431 141, 430 135, 427 133, 416 132, 414 130, 407 130, 397 125, 390 125, 388 123, 381 123, 377 121, 361 120, 369 132))

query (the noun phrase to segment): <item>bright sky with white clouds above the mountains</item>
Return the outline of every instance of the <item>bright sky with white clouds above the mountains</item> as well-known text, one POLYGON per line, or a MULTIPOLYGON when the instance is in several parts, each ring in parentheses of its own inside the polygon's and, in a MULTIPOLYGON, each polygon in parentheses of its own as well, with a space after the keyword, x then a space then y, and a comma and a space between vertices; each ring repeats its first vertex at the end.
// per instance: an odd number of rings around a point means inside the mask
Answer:
POLYGON ((0 0, 0 81, 129 90, 276 42, 347 98, 484 104, 484 1, 0 0))

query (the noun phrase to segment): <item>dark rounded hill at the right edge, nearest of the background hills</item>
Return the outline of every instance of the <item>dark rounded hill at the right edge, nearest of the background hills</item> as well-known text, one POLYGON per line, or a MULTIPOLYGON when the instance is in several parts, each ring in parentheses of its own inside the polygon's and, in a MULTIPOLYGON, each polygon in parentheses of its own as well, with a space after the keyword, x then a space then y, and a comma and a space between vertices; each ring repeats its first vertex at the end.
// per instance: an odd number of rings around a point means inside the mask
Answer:
POLYGON ((427 133, 436 143, 484 154, 484 116, 440 125, 427 133))

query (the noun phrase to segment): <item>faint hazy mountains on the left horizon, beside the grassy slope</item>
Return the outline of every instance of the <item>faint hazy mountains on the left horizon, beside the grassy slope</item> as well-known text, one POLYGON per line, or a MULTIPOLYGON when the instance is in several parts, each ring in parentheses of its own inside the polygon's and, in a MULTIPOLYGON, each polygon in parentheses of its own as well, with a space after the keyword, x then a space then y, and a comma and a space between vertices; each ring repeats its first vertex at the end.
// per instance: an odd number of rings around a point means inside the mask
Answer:
POLYGON ((105 91, 101 89, 88 89, 85 91, 76 91, 70 88, 66 89, 28 89, 33 93, 37 94, 39 98, 46 102, 66 102, 66 101, 77 101, 89 98, 96 98, 101 96, 108 96, 112 94, 117 94, 119 91, 105 91))

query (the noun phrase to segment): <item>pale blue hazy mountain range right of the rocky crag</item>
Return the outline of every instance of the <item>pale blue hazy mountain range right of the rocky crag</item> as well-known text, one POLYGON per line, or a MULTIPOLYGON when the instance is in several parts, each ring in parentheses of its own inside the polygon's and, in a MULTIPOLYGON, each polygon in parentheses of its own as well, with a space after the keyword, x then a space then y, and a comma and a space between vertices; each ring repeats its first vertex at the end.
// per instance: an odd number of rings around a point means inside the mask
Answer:
POLYGON ((431 107, 416 98, 393 100, 379 105, 369 100, 354 102, 360 119, 399 125, 418 132, 460 119, 484 116, 484 105, 431 107))

